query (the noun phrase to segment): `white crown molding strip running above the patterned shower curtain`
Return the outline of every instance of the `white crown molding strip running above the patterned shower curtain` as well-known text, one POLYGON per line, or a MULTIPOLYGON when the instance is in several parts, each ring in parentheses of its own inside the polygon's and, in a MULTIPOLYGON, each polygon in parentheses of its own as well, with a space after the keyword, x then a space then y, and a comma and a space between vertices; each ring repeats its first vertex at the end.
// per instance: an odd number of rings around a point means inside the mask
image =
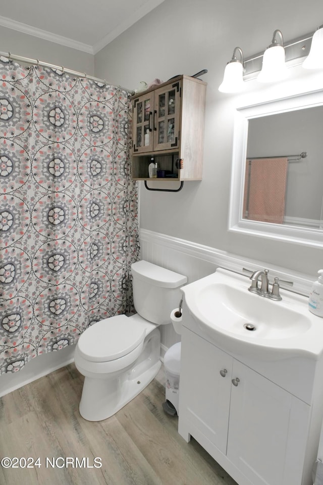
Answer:
POLYGON ((55 42, 56 44, 64 45, 65 47, 71 47, 71 49, 76 49, 77 51, 82 51, 87 54, 94 54, 93 47, 76 40, 63 37, 62 35, 52 34, 51 32, 46 32, 45 30, 32 27, 22 22, 17 22, 16 20, 8 19, 7 17, 0 16, 0 25, 2 27, 7 27, 8 29, 17 30, 24 34, 33 35, 43 40, 49 40, 50 42, 55 42))

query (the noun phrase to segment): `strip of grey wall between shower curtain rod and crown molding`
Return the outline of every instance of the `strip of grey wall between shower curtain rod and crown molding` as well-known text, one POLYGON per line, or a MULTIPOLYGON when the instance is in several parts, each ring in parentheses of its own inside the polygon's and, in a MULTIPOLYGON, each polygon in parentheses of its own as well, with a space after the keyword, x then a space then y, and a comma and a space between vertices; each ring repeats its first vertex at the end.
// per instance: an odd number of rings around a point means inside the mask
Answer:
POLYGON ((93 55, 6 27, 0 27, 0 52, 10 52, 12 55, 38 59, 90 76, 94 75, 93 55))

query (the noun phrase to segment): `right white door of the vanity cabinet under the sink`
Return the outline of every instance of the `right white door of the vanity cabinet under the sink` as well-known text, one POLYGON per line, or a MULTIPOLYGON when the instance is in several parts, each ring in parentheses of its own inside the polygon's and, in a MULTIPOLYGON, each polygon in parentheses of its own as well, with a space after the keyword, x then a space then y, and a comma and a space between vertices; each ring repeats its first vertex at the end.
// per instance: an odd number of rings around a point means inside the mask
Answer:
POLYGON ((227 457, 257 485, 300 485, 310 406, 234 360, 227 457))

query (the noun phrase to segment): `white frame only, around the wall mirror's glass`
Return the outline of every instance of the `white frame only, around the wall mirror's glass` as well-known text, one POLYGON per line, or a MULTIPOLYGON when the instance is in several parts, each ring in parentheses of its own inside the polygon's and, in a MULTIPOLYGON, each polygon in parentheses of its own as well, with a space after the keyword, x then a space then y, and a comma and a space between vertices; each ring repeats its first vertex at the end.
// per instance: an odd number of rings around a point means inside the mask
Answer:
MULTIPOLYGON (((234 119, 231 191, 228 229, 244 234, 269 237, 306 246, 322 247, 323 230, 288 224, 272 224, 242 218, 248 121, 287 111, 323 105, 323 90, 298 94, 290 98, 237 108, 234 119)), ((323 185, 323 180, 322 180, 323 185)))

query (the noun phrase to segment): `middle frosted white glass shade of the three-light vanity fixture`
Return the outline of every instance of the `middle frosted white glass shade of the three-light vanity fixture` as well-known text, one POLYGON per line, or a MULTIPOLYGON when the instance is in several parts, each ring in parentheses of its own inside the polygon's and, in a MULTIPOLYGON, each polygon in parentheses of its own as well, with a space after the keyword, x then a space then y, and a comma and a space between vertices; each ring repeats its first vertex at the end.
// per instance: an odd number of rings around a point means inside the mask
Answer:
POLYGON ((285 64, 285 49, 282 45, 268 47, 263 53, 262 69, 257 80, 260 82, 275 82, 285 79, 288 69, 285 64))

